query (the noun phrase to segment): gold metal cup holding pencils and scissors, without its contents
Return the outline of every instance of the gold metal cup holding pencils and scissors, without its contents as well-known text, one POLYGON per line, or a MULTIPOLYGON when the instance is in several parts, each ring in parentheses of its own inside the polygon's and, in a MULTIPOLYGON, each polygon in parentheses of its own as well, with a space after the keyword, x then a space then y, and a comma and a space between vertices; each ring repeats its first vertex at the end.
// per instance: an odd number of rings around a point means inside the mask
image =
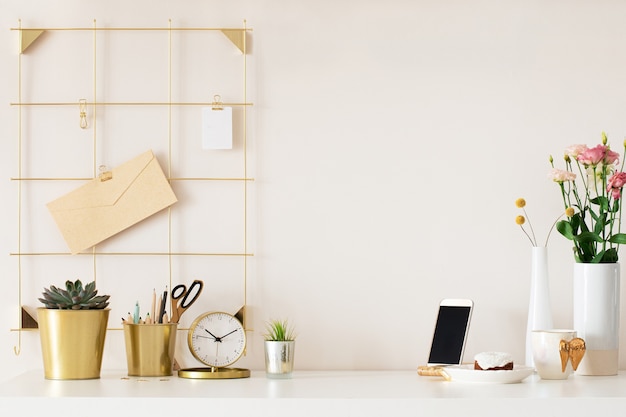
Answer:
POLYGON ((178 323, 124 323, 128 375, 172 375, 177 327, 178 323))

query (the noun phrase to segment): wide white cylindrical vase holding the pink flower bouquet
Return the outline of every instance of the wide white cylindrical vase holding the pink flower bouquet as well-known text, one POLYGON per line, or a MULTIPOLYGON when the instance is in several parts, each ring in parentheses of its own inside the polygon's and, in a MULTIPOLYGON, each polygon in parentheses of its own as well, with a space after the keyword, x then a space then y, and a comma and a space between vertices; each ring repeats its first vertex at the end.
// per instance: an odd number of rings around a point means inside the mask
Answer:
POLYGON ((576 374, 617 374, 619 292, 619 263, 574 264, 574 330, 587 347, 576 374))

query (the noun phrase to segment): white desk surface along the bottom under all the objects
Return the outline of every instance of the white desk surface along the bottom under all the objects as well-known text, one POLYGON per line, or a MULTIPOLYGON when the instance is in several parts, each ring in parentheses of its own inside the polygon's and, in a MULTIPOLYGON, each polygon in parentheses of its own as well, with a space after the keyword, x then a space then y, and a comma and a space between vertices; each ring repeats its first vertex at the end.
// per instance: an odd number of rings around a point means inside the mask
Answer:
POLYGON ((626 413, 626 373, 516 384, 445 381, 415 371, 295 371, 291 379, 128 377, 46 380, 31 371, 0 384, 0 416, 602 416, 626 413), (73 411, 71 411, 73 410, 73 411), (83 411, 78 411, 83 410, 83 411), (76 412, 78 411, 78 414, 76 412), (617 414, 615 414, 617 413, 617 414))

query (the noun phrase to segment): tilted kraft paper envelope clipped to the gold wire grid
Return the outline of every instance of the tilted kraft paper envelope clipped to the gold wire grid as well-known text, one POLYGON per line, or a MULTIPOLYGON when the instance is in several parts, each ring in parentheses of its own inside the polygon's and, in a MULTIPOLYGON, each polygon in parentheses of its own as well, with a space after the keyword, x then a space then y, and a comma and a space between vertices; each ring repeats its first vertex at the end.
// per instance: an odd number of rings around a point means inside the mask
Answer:
POLYGON ((47 204, 72 254, 90 248, 174 204, 152 151, 47 204))

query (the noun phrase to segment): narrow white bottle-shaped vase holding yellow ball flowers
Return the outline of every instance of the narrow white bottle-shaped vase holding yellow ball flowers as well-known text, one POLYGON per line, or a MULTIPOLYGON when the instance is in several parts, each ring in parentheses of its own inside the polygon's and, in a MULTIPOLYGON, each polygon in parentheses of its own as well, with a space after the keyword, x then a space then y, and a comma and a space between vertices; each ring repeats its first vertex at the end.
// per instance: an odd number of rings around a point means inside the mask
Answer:
POLYGON ((549 330, 552 327, 550 282, 548 279, 548 248, 546 246, 533 246, 530 269, 530 300, 526 325, 525 359, 527 366, 534 366, 533 330, 549 330))

